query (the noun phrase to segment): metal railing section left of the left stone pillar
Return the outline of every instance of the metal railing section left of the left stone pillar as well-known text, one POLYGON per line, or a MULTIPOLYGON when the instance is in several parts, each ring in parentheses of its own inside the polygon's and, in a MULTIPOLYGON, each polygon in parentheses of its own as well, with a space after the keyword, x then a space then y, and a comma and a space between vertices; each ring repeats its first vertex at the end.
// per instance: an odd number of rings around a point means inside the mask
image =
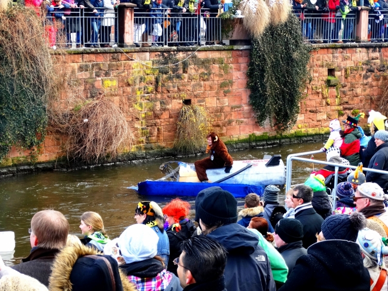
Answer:
POLYGON ((118 40, 117 9, 97 14, 81 8, 54 7, 44 18, 46 42, 51 48, 112 47, 118 40))

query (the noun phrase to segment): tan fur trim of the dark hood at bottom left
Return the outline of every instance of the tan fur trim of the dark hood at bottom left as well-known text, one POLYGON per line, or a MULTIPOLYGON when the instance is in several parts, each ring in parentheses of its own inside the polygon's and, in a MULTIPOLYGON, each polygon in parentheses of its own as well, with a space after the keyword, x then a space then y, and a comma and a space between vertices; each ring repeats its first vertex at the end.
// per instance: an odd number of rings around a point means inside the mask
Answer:
MULTIPOLYGON (((86 246, 66 246, 56 256, 52 265, 52 273, 49 277, 50 291, 72 291, 70 274, 77 259, 88 255, 100 255, 94 248, 86 246)), ((118 270, 124 291, 136 291, 135 287, 129 283, 127 276, 118 270)))

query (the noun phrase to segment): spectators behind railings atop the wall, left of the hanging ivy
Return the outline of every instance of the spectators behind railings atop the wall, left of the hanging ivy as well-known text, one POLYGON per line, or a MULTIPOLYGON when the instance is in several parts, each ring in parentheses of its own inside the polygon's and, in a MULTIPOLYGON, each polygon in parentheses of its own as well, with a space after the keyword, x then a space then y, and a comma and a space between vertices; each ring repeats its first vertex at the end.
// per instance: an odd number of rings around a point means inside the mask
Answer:
MULTIPOLYGON (((224 4, 219 0, 122 0, 136 5, 133 42, 140 46, 195 46, 221 43, 224 4), (206 40, 205 42, 201 42, 206 40)), ((111 48, 118 43, 120 0, 25 0, 45 15, 50 48, 111 48)))

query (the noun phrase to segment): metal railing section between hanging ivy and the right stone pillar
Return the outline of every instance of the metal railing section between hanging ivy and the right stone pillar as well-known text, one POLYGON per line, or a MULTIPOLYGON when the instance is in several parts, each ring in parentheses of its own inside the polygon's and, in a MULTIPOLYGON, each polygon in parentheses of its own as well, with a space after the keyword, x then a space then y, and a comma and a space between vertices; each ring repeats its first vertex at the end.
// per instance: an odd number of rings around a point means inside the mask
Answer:
POLYGON ((356 14, 345 18, 336 16, 335 11, 293 10, 299 18, 303 38, 309 43, 354 42, 356 40, 356 14))

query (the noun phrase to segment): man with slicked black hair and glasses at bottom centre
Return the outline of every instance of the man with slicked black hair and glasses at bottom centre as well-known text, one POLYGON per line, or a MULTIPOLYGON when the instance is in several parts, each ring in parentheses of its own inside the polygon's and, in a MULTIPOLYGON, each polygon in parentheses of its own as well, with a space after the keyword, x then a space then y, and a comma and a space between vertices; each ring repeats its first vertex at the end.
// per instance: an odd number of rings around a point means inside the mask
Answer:
POLYGON ((226 249, 206 236, 182 243, 182 254, 174 262, 183 291, 226 291, 226 249))

